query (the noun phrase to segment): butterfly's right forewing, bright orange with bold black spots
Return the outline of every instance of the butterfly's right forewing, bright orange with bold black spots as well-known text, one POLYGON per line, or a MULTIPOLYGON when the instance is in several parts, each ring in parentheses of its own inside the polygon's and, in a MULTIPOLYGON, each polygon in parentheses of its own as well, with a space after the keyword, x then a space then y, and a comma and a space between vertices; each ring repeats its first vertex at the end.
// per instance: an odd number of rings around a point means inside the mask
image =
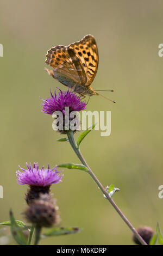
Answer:
POLYGON ((98 69, 99 57, 95 38, 92 35, 85 35, 82 40, 68 45, 67 48, 68 51, 71 49, 76 53, 76 58, 80 60, 80 66, 84 68, 86 79, 83 77, 80 84, 86 87, 90 86, 98 69))

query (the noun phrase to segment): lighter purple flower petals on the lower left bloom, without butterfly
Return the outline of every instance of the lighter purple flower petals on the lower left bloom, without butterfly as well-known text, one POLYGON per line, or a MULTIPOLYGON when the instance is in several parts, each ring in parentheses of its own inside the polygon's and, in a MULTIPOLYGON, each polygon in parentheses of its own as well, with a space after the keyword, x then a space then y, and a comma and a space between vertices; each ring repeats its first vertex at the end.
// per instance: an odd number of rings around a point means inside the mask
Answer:
POLYGON ((20 170, 17 170, 16 176, 17 176, 17 183, 20 185, 28 184, 30 186, 51 186, 52 184, 57 184, 60 181, 62 181, 62 176, 59 175, 61 171, 57 172, 57 166, 55 166, 53 169, 50 169, 49 164, 48 168, 44 169, 44 166, 39 169, 39 164, 34 163, 33 167, 31 163, 28 166, 27 164, 27 170, 23 169, 19 166, 23 172, 20 170), (55 170, 54 170, 55 169, 55 170))

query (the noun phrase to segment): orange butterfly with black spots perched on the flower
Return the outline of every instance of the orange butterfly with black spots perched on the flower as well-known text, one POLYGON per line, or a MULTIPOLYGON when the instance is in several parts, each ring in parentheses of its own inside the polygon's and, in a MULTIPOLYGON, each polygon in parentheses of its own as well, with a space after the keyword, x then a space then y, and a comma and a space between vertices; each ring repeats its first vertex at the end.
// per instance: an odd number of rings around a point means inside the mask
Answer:
POLYGON ((82 96, 99 95, 91 87, 97 73, 98 60, 95 38, 89 34, 68 46, 59 45, 48 50, 45 62, 53 69, 45 70, 73 92, 82 96))

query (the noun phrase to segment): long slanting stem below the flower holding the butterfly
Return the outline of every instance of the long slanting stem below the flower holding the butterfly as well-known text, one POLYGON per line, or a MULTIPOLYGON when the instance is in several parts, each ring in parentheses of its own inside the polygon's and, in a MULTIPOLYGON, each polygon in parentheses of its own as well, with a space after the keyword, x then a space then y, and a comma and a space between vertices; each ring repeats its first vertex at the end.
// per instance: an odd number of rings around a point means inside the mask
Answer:
POLYGON ((116 205, 116 203, 114 202, 114 200, 109 196, 109 193, 105 190, 105 188, 103 187, 103 185, 101 184, 101 182, 97 179, 96 175, 92 172, 91 168, 89 167, 89 165, 86 163, 82 153, 80 152, 77 143, 74 139, 74 133, 73 131, 69 130, 67 131, 67 136, 68 136, 68 141, 71 144, 72 149, 74 150, 74 153, 76 153, 76 155, 78 156, 79 160, 89 169, 89 171, 87 173, 90 174, 91 178, 96 182, 96 184, 98 185, 98 187, 101 189, 101 191, 103 192, 103 194, 105 194, 106 198, 109 200, 109 202, 111 203, 111 205, 114 207, 114 209, 118 212, 118 214, 121 216, 122 220, 128 225, 128 227, 131 229, 131 231, 134 233, 134 235, 136 236, 136 238, 140 241, 140 243, 142 245, 147 245, 147 243, 142 239, 142 237, 139 235, 139 233, 137 232, 137 230, 133 227, 133 225, 129 222, 129 220, 126 218, 126 216, 122 213, 122 211, 120 210, 120 208, 118 208, 118 206, 116 205))

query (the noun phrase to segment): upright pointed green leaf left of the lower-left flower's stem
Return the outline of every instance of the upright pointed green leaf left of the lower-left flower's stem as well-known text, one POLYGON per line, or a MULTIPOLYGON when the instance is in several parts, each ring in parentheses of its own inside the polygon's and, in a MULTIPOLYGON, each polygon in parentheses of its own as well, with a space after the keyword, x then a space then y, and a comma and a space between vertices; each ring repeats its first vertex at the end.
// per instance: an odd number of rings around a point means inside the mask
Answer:
POLYGON ((10 221, 11 221, 11 233, 14 237, 15 241, 18 243, 18 245, 27 245, 27 239, 23 234, 23 231, 18 226, 17 222, 15 221, 14 215, 12 214, 12 211, 10 210, 10 221))

